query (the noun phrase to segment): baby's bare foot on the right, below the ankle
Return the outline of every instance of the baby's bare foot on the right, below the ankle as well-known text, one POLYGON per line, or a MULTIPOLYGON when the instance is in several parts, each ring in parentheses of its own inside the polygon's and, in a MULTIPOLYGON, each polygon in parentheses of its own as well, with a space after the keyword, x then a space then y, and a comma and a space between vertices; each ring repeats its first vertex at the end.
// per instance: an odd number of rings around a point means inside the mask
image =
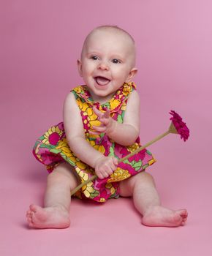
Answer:
POLYGON ((143 216, 143 225, 153 227, 178 227, 186 223, 188 213, 185 209, 173 211, 163 206, 151 206, 143 216))

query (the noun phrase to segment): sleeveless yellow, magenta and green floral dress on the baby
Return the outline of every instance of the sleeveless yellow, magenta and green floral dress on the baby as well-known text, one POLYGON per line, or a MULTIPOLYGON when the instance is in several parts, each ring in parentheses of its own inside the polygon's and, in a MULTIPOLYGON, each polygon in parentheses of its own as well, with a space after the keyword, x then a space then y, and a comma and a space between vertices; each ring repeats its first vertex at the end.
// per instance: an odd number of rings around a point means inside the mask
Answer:
MULTIPOLYGON (((95 105, 103 113, 108 108, 110 110, 110 116, 119 123, 123 123, 127 99, 135 89, 135 83, 124 83, 116 91, 113 98, 103 105, 99 105, 98 102, 92 100, 91 94, 86 86, 77 86, 72 89, 77 105, 80 108, 86 140, 92 147, 105 156, 116 157, 118 159, 125 157, 140 147, 140 138, 137 138, 136 142, 131 146, 121 146, 107 137, 105 133, 91 135, 89 131, 92 129, 92 126, 98 126, 100 124, 93 111, 93 106, 95 105)), ((70 150, 63 122, 50 127, 36 141, 33 153, 37 160, 47 167, 48 172, 51 172, 59 163, 68 162, 75 168, 82 183, 95 174, 94 168, 81 162, 70 150)), ((108 198, 117 198, 119 195, 118 181, 123 181, 130 176, 140 173, 155 161, 151 152, 143 149, 143 151, 126 159, 124 162, 120 162, 117 169, 109 177, 103 179, 96 178, 96 180, 88 182, 88 184, 75 193, 75 196, 90 198, 97 202, 105 202, 108 198)))

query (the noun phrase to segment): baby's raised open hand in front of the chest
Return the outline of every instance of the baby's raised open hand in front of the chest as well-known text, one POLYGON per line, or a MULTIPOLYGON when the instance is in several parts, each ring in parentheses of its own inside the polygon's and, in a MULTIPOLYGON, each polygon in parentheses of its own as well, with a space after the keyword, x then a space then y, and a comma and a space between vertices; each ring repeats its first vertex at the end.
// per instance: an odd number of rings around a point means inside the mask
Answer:
POLYGON ((93 135, 100 135, 102 132, 109 133, 112 131, 115 126, 115 121, 110 117, 110 110, 107 109, 105 113, 97 110, 96 107, 93 107, 93 110, 101 122, 101 125, 99 127, 93 126, 92 129, 94 129, 95 132, 90 131, 90 133, 93 135))

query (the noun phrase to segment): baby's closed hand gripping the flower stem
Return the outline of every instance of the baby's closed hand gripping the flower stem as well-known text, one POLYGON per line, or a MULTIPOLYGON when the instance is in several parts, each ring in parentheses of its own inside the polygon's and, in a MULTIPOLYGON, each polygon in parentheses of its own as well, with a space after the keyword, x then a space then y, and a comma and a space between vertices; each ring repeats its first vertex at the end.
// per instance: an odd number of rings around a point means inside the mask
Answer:
POLYGON ((100 157, 95 162, 95 173, 99 178, 107 178, 116 170, 118 160, 116 157, 100 157))

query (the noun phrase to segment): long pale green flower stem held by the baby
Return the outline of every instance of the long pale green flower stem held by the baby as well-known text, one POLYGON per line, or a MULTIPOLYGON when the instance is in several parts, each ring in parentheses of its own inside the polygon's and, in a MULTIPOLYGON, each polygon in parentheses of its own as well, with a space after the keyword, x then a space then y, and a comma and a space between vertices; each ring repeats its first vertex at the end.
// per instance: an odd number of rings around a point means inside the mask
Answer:
MULTIPOLYGON (((144 148, 147 148, 148 146, 150 146, 151 144, 155 143, 157 140, 161 140, 162 138, 164 138, 166 135, 168 135, 170 133, 169 130, 167 130, 167 132, 164 132, 162 135, 157 136, 156 138, 154 138, 154 140, 151 140, 150 142, 146 143, 144 146, 141 146, 140 148, 137 148, 135 151, 133 151, 131 154, 128 154, 126 157, 123 157, 121 159, 118 159, 118 162, 124 162, 126 159, 129 159, 129 157, 134 156, 135 154, 137 154, 138 152, 140 152, 141 150, 143 150, 144 148)), ((88 182, 93 181, 95 178, 97 178, 96 174, 94 176, 91 176, 91 178, 88 178, 87 181, 84 181, 82 184, 80 184, 79 186, 75 187, 75 189, 72 190, 71 195, 74 195, 75 192, 77 192, 81 187, 85 186, 86 184, 88 184, 88 182)))

